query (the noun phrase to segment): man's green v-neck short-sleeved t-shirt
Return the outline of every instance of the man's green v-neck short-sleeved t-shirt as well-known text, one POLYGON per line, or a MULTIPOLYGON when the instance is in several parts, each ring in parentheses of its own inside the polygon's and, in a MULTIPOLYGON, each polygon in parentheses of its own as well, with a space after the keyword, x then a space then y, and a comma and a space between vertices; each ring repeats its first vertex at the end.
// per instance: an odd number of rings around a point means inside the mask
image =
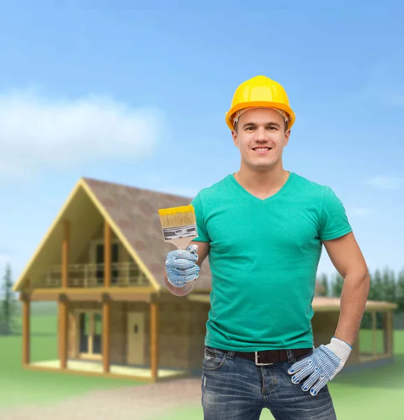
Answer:
POLYGON ((323 240, 351 232, 333 190, 294 172, 260 200, 233 174, 192 201, 196 241, 210 244, 205 344, 235 351, 312 347, 312 300, 323 240))

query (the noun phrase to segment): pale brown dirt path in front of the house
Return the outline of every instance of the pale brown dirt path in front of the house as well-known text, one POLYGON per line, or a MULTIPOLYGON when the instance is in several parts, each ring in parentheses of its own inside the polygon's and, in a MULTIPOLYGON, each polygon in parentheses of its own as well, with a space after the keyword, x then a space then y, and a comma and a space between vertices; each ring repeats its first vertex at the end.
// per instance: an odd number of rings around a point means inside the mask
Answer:
POLYGON ((200 379, 95 391, 50 407, 0 410, 1 420, 154 420, 167 409, 201 404, 200 379))

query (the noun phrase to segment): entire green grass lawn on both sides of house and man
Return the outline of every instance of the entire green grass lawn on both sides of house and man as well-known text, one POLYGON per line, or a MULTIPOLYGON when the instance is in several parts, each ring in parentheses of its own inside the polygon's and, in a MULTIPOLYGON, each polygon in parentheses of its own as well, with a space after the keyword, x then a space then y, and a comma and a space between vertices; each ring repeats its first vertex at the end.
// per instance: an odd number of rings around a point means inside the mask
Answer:
MULTIPOLYGON (((57 319, 54 309, 50 307, 46 311, 43 308, 35 311, 33 307, 33 361, 57 358, 57 319)), ((370 331, 361 331, 360 334, 361 349, 370 350, 370 331)), ((340 374, 329 382, 338 420, 403 420, 401 400, 404 395, 404 330, 395 331, 394 336, 396 362, 393 365, 379 367, 377 370, 340 374)), ((381 340, 382 336, 378 338, 381 340)), ((30 403, 46 405, 95 389, 141 384, 130 380, 26 370, 21 365, 21 349, 22 340, 19 335, 0 337, 0 409, 30 403)), ((202 407, 181 407, 155 420, 182 419, 202 420, 202 407)), ((273 420, 273 417, 265 410, 260 419, 273 420)))

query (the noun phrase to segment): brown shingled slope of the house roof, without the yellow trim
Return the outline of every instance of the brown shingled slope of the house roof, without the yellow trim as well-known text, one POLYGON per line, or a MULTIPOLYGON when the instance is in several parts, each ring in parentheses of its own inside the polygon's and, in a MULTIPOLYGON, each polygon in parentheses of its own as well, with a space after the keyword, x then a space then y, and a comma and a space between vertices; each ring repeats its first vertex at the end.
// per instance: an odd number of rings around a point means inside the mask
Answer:
MULTIPOLYGON (((158 283, 164 286, 162 273, 165 259, 167 253, 175 248, 162 239, 158 209, 188 205, 193 197, 182 197, 85 177, 83 181, 158 283)), ((202 265, 194 290, 210 288, 211 274, 207 258, 202 265)))

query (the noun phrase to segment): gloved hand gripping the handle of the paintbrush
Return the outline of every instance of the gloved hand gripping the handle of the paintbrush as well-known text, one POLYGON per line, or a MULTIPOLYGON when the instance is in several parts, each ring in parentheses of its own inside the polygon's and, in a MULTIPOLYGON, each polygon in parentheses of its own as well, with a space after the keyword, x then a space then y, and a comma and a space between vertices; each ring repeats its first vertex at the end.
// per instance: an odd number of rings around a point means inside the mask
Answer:
POLYGON ((188 281, 199 276, 200 267, 197 261, 197 246, 195 244, 185 249, 176 249, 167 254, 165 271, 169 283, 176 287, 183 287, 188 281))

